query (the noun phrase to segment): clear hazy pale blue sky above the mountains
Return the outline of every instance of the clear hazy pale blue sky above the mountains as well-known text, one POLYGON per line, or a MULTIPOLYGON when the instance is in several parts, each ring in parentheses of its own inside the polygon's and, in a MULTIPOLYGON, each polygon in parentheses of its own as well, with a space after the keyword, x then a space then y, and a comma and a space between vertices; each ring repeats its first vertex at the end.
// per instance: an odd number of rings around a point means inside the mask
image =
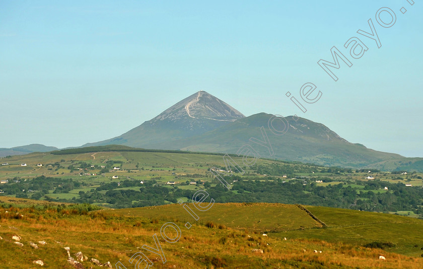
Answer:
POLYGON ((415 2, 1 1, 0 147, 109 139, 204 90, 247 116, 297 114, 349 142, 423 157, 415 2), (389 28, 376 20, 382 7, 396 15, 389 28), (370 18, 380 48, 357 33, 371 32, 370 18), (368 47, 359 59, 343 47, 351 37, 368 47), (333 46, 353 63, 331 69, 337 82, 317 64, 333 46), (285 93, 302 100, 308 82, 322 97, 302 101, 303 113, 285 93))

